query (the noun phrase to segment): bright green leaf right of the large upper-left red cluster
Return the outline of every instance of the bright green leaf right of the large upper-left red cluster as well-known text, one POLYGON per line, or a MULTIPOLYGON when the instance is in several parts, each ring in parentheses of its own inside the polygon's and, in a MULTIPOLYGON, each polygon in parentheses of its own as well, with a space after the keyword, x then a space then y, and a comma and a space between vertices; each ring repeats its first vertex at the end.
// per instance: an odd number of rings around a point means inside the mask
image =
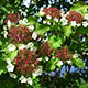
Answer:
POLYGON ((46 32, 48 32, 51 29, 50 29, 50 26, 48 25, 46 25, 46 24, 36 24, 36 30, 35 30, 35 32, 37 33, 37 34, 44 34, 44 33, 46 33, 46 32))

